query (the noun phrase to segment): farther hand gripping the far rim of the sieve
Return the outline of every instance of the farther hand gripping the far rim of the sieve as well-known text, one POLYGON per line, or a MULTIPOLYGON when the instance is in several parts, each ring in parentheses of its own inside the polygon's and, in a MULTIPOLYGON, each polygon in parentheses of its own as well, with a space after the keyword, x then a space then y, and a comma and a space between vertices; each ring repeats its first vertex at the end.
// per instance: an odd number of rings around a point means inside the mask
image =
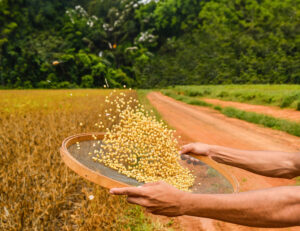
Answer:
POLYGON ((188 163, 198 164, 200 161, 191 156, 185 155, 186 153, 193 153, 196 155, 208 156, 211 145, 203 143, 190 143, 181 147, 181 159, 187 160, 188 163))

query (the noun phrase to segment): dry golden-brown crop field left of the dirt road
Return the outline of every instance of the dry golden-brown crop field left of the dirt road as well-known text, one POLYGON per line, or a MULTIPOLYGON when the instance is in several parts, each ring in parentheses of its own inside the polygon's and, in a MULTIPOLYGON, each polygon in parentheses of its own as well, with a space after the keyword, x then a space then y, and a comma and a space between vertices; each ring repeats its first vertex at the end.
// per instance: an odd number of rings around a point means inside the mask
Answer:
MULTIPOLYGON (((101 131, 95 122, 109 93, 0 91, 0 230, 166 229, 123 197, 83 180, 60 159, 65 137, 101 131)), ((134 91, 127 95, 137 97, 134 91)))

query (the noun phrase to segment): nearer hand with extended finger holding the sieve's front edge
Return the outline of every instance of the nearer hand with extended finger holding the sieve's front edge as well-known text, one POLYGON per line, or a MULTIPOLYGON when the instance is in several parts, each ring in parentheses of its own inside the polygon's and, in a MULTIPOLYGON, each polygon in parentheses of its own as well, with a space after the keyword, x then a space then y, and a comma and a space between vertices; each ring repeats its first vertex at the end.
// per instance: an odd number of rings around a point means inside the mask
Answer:
POLYGON ((114 195, 127 195, 127 201, 146 207, 146 211, 170 217, 184 214, 184 200, 188 193, 165 182, 144 184, 140 187, 113 188, 114 195))

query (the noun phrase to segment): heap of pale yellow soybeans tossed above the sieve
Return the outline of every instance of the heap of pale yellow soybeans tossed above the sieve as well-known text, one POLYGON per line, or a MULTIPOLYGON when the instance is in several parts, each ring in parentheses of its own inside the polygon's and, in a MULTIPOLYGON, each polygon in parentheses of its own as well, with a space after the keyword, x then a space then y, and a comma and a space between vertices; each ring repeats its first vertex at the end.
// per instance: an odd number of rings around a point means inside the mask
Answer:
MULTIPOLYGON (((115 124, 109 129, 92 157, 112 169, 140 182, 165 181, 188 191, 194 183, 191 172, 179 164, 175 131, 157 121, 125 93, 107 96, 105 116, 115 124), (111 116, 111 112, 114 116, 111 116)), ((96 124, 103 127, 102 123, 96 124)))

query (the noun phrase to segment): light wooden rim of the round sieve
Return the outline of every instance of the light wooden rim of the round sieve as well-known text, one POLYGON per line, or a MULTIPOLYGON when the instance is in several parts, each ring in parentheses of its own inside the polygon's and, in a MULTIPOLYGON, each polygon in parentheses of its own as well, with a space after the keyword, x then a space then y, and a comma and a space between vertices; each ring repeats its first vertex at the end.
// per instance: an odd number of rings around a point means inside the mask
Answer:
MULTIPOLYGON (((81 162, 79 162, 75 157, 71 155, 71 153, 68 151, 68 148, 75 144, 76 142, 80 141, 89 141, 89 140, 94 140, 94 137, 96 136, 97 139, 102 140, 104 138, 105 133, 82 133, 82 134, 76 134, 73 136, 69 136, 66 138, 62 146, 60 148, 60 154, 62 160, 65 162, 65 164, 72 169, 74 172, 76 172, 78 175, 82 176, 83 178, 87 179, 88 181, 91 181, 95 184, 98 184, 102 187, 105 188, 118 188, 118 187, 130 187, 131 185, 128 185, 126 183, 111 179, 107 176, 104 176, 100 174, 99 172, 96 172, 81 162)), ((198 156, 194 154, 190 154, 190 156, 199 159, 203 163, 209 165, 210 167, 214 168, 217 170, 219 173, 221 173, 232 185, 233 191, 238 192, 239 191, 239 183, 237 179, 230 174, 229 172, 226 171, 225 166, 221 166, 214 160, 204 157, 204 156, 198 156)))

